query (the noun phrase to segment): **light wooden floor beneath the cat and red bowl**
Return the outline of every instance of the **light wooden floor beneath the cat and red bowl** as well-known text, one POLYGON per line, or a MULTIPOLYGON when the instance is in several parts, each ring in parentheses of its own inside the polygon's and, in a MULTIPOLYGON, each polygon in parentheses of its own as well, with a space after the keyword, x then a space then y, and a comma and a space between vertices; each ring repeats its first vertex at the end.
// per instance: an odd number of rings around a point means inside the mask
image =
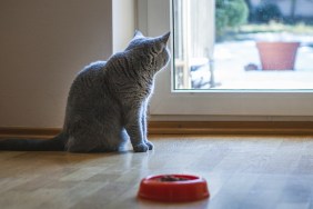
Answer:
POLYGON ((312 209, 313 137, 154 137, 147 153, 0 151, 0 208, 312 209), (137 199, 143 177, 199 175, 208 200, 137 199))

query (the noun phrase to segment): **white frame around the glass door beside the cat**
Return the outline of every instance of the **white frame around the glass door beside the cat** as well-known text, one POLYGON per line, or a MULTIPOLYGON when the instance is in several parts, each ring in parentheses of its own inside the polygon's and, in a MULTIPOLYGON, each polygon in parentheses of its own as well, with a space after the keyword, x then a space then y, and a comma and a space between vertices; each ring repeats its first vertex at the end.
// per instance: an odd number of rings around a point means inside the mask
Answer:
MULTIPOLYGON (((160 36, 171 30, 170 16, 171 0, 138 0, 138 27, 145 36, 160 36)), ((171 79, 173 70, 170 68, 172 63, 158 74, 151 115, 313 120, 312 90, 175 92, 171 79)))

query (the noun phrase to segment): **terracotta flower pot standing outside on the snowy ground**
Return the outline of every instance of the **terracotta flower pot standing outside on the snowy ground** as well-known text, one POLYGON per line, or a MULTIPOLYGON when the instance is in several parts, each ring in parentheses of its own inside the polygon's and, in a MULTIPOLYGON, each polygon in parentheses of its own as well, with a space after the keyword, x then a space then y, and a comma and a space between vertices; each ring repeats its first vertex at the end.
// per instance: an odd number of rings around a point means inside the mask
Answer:
POLYGON ((262 70, 294 70, 300 42, 256 42, 262 70))

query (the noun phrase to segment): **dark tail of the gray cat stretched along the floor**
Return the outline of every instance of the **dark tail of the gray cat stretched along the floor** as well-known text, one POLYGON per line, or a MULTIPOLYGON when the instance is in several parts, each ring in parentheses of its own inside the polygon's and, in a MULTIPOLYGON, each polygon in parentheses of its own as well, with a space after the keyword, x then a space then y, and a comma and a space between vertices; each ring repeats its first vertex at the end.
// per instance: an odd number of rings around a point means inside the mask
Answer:
POLYGON ((8 151, 64 151, 67 136, 60 133, 52 139, 4 139, 0 140, 0 150, 8 151))

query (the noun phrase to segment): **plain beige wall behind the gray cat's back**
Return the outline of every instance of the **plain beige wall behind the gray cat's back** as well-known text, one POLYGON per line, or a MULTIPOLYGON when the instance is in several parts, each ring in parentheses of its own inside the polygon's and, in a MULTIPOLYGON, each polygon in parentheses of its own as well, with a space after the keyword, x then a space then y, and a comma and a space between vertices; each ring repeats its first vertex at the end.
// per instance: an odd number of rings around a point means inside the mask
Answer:
POLYGON ((112 53, 112 2, 1 0, 0 46, 0 127, 62 127, 75 73, 112 53))

